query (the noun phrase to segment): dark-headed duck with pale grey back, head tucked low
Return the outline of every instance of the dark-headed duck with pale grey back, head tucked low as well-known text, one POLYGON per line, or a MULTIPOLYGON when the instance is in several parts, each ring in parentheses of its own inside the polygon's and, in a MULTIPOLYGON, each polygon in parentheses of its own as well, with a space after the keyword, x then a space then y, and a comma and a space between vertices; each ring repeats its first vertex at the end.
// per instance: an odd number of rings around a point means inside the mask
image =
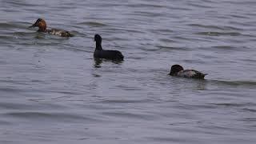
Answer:
POLYGON ((203 74, 198 70, 184 70, 182 66, 173 65, 170 69, 170 75, 183 78, 204 79, 207 74, 203 74))

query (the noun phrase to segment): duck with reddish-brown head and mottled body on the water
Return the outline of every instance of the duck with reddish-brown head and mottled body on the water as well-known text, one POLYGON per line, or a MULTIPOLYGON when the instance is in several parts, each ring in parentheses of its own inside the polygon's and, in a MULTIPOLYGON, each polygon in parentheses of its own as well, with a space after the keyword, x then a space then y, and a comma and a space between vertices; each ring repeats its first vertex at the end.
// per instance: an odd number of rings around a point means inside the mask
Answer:
POLYGON ((30 27, 38 27, 38 32, 48 33, 48 34, 54 34, 61 37, 72 37, 73 34, 70 34, 70 32, 66 30, 57 30, 57 29, 46 29, 46 21, 42 18, 38 18, 37 22, 34 22, 34 24, 30 27))

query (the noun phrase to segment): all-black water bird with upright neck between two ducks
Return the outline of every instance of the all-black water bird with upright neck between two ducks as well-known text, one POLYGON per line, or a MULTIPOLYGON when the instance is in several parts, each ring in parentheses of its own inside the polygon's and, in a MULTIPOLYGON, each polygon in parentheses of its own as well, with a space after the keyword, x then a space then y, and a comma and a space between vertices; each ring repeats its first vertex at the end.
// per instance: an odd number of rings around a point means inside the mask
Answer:
POLYGON ((94 50, 94 58, 106 58, 110 60, 123 60, 123 55, 118 50, 102 50, 102 37, 99 34, 94 35, 96 48, 94 50))

